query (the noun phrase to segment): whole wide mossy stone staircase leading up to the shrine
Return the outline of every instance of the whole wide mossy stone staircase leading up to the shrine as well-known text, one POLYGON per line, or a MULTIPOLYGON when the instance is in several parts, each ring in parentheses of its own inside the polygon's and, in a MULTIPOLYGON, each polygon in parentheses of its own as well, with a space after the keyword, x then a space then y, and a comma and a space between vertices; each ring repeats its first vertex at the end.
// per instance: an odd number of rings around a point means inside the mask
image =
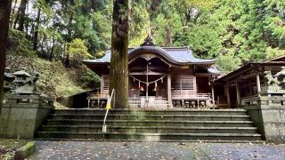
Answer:
POLYGON ((260 142, 262 136, 243 109, 54 110, 37 132, 39 140, 143 140, 260 142))

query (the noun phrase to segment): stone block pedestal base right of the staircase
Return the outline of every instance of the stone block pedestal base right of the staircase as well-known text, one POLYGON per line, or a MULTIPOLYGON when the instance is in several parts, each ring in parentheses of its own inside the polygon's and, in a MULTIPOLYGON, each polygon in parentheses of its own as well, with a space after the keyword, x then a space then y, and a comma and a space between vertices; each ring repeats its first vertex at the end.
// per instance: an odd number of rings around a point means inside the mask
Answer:
POLYGON ((259 97, 244 100, 243 104, 266 141, 285 143, 284 90, 263 90, 259 97))

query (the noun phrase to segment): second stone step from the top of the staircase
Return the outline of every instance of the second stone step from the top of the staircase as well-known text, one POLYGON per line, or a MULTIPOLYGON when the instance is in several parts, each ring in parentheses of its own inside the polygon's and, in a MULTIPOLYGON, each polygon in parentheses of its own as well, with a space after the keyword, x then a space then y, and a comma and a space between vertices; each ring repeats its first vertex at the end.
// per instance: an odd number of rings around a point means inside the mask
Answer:
MULTIPOLYGON (((102 120, 104 115, 101 114, 52 114, 53 119, 92 119, 102 120)), ((172 120, 172 121, 249 121, 248 115, 152 115, 152 116, 135 116, 135 115, 108 115, 108 120, 172 120)))

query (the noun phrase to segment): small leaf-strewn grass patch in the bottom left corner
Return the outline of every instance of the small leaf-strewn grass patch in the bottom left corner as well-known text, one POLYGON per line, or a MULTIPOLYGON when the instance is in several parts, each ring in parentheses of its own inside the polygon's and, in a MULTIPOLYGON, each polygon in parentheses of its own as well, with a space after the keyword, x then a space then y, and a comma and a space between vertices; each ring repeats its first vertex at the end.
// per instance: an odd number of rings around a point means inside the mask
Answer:
POLYGON ((0 139, 0 159, 13 159, 15 151, 24 146, 28 140, 0 139))

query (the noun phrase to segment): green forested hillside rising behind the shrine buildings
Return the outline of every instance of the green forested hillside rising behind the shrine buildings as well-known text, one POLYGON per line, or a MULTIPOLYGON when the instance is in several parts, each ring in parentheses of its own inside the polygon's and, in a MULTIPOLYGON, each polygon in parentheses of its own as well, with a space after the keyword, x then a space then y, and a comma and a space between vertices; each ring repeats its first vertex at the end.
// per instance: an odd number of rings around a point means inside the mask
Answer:
MULTIPOLYGON (((77 84, 97 85, 99 77, 81 60, 110 49, 112 5, 111 0, 12 0, 6 66, 37 67, 53 97, 82 91, 77 84), (57 92, 66 89, 54 85, 59 81, 72 89, 57 92)), ((196 57, 216 59, 224 73, 285 54, 285 1, 130 0, 128 13, 129 46, 151 35, 158 46, 188 46, 196 57)))

